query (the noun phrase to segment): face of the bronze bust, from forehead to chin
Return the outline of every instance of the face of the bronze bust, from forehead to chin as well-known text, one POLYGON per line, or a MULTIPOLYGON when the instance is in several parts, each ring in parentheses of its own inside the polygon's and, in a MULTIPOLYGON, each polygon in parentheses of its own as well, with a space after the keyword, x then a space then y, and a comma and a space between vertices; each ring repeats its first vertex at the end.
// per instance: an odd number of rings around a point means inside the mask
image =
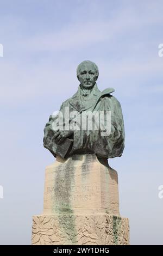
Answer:
POLYGON ((80 66, 78 80, 85 89, 89 89, 95 85, 97 74, 93 64, 85 63, 80 66))

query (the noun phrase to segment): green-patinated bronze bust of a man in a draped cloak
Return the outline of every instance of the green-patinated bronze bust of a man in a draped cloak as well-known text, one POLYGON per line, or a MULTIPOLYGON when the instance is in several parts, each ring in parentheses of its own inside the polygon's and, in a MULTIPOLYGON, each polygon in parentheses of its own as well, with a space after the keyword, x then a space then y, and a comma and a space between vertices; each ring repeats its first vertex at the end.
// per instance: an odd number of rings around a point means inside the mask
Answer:
POLYGON ((98 89, 98 67, 89 60, 78 65, 77 78, 77 93, 62 103, 60 116, 51 115, 45 126, 44 147, 64 159, 74 154, 121 156, 124 124, 120 102, 110 94, 114 89, 98 89))

